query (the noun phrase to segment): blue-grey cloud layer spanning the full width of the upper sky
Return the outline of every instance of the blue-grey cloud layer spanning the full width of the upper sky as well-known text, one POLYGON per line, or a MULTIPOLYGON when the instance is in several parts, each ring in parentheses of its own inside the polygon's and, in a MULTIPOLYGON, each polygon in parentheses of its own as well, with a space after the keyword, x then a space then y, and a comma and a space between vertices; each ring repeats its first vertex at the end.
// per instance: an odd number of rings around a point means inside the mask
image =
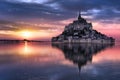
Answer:
POLYGON ((81 10, 86 12, 83 15, 93 16, 92 20, 117 20, 116 18, 120 17, 119 4, 119 0, 2 0, 0 14, 20 19, 41 18, 58 21, 74 18, 81 10))

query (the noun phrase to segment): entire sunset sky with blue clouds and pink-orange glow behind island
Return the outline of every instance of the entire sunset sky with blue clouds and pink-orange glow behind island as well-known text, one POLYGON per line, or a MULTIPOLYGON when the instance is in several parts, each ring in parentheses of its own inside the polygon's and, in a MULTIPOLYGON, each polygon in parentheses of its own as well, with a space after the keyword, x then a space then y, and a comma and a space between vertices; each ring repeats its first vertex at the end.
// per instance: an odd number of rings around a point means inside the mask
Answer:
POLYGON ((0 39, 50 40, 82 17, 120 40, 120 0, 0 0, 0 39))

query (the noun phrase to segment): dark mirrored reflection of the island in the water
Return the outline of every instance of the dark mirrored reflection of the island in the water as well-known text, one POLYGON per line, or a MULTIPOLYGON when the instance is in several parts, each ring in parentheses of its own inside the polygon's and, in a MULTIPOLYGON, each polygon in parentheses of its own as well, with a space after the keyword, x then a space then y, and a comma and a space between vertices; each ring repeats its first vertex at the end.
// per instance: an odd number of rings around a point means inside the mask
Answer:
POLYGON ((114 44, 52 44, 63 51, 66 59, 78 65, 79 71, 81 67, 88 62, 92 62, 93 55, 105 50, 114 44))

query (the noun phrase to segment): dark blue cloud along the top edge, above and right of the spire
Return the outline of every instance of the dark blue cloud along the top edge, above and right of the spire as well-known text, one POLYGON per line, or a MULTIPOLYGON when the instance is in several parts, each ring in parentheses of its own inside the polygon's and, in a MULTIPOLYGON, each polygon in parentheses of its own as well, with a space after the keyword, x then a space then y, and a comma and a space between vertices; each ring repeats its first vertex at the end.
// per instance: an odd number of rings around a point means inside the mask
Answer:
POLYGON ((104 8, 120 9, 120 1, 114 0, 52 0, 51 3, 58 2, 64 9, 71 11, 91 10, 104 8))

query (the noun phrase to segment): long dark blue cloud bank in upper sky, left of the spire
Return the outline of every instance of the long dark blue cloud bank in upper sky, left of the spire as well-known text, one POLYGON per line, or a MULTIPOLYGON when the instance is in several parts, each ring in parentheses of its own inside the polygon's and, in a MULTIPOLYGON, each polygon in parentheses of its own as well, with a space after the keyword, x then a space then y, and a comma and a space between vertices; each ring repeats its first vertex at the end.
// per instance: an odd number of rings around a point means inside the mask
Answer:
POLYGON ((6 1, 0 2, 0 15, 12 17, 14 19, 48 19, 48 20, 63 20, 70 18, 70 14, 67 11, 56 10, 53 8, 56 6, 45 5, 45 4, 35 4, 35 3, 11 3, 6 1), (69 13, 69 15, 67 15, 69 13), (67 15, 67 16, 66 16, 67 15))

